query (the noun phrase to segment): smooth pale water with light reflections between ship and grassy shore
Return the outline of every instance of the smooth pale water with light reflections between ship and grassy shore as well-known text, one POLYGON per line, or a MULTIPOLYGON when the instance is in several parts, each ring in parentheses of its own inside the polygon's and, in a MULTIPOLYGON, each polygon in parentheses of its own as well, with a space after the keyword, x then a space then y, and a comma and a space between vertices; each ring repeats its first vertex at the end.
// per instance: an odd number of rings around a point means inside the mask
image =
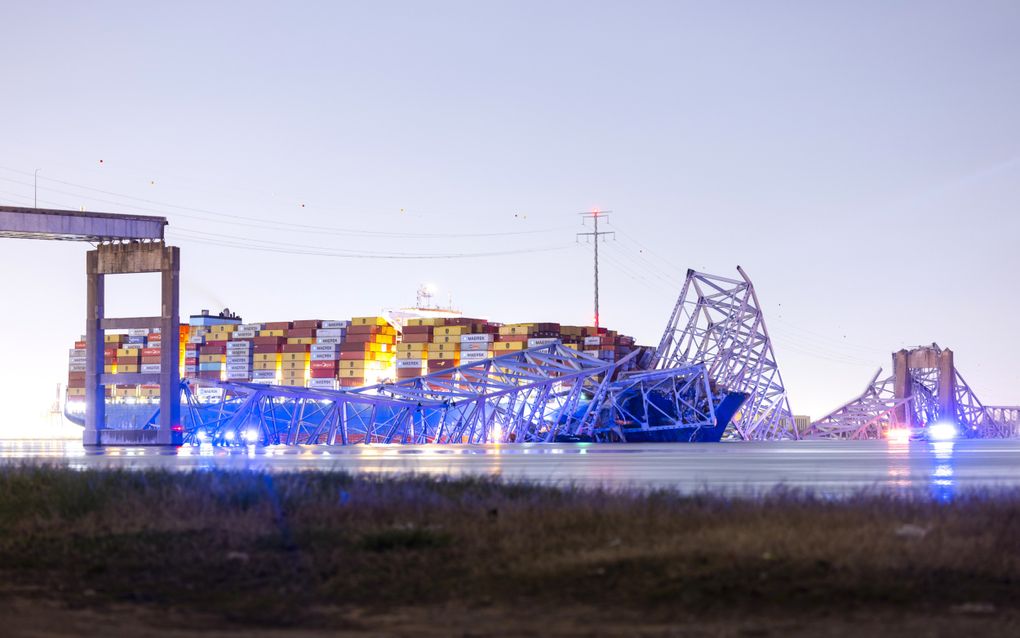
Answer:
POLYGON ((952 443, 801 441, 716 444, 530 444, 86 450, 78 442, 0 441, 0 462, 75 469, 161 468, 269 472, 496 475, 507 479, 680 491, 764 490, 829 494, 860 489, 951 498, 980 488, 1020 488, 1020 440, 952 443))

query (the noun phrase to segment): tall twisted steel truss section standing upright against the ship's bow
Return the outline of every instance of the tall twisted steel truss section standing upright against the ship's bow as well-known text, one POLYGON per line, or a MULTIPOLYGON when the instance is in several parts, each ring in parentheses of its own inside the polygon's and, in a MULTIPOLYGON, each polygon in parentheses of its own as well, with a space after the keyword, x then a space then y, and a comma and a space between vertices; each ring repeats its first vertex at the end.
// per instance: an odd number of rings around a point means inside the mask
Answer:
POLYGON ((733 419, 742 439, 800 438, 754 284, 687 271, 652 367, 704 363, 719 387, 749 395, 733 419))

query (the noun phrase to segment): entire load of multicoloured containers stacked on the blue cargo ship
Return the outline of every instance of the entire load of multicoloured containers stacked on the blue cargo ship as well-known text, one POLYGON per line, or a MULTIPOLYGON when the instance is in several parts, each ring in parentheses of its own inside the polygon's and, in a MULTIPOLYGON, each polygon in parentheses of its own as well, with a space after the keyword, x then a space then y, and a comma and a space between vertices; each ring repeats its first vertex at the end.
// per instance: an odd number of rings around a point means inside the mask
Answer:
MULTIPOLYGON (((260 384, 336 389, 407 379, 561 341, 612 361, 630 352, 631 337, 615 331, 555 323, 501 326, 469 317, 407 321, 403 333, 382 316, 351 321, 302 320, 241 324, 240 320, 195 315, 181 327, 182 376, 260 384)), ((159 373, 158 331, 105 335, 108 374, 159 373)), ((68 352, 67 397, 85 396, 85 342, 68 352)), ((157 385, 107 386, 107 395, 158 399, 157 385)))

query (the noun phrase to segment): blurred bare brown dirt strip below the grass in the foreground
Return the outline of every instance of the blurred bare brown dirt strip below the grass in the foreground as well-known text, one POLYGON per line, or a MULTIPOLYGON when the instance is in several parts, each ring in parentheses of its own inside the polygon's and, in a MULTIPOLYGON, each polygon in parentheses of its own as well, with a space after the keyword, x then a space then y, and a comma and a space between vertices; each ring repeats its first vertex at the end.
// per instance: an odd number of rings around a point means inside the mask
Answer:
POLYGON ((840 616, 804 618, 726 617, 706 620, 657 621, 645 615, 615 614, 585 607, 557 610, 489 607, 465 609, 450 606, 408 607, 389 612, 358 609, 323 610, 329 629, 259 628, 232 626, 220 619, 158 610, 139 605, 103 605, 69 608, 52 601, 23 597, 0 601, 0 634, 10 638, 291 638, 299 636, 636 636, 692 638, 751 638, 819 636, 961 637, 1020 635, 1020 619, 982 605, 964 605, 945 614, 891 615, 857 611, 840 616), (346 628, 344 627, 346 626, 346 628))

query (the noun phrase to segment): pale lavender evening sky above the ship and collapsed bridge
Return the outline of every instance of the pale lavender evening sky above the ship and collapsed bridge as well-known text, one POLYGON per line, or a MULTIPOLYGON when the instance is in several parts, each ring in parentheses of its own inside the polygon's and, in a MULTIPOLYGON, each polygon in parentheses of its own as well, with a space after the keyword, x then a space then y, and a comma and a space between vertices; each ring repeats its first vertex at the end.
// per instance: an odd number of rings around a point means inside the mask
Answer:
MULTIPOLYGON (((1016 2, 5 2, 0 204, 159 214, 182 310, 437 299, 658 343, 754 280, 793 409, 937 342, 1020 404, 1016 2), (38 173, 38 195, 34 186, 38 173), (603 230, 603 229, 600 229, 603 230)), ((0 434, 84 332, 87 244, 0 240, 0 434)), ((151 314, 154 280, 107 312, 151 314)))

